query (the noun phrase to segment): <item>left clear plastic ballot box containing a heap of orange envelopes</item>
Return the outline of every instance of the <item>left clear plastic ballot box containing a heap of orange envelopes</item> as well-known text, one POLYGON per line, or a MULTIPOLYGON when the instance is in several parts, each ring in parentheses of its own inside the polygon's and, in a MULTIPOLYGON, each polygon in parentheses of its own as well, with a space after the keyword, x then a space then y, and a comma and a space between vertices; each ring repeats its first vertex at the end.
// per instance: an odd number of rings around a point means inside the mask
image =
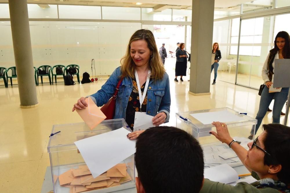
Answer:
MULTIPOLYGON (((53 125, 48 153, 55 193, 96 192, 107 193, 135 187, 134 155, 93 178, 75 141, 124 127, 131 132, 124 119, 104 120, 95 128, 84 123, 53 125)), ((106 144, 104 144, 105 146, 106 144)), ((99 147, 102 148, 102 147, 99 147)))

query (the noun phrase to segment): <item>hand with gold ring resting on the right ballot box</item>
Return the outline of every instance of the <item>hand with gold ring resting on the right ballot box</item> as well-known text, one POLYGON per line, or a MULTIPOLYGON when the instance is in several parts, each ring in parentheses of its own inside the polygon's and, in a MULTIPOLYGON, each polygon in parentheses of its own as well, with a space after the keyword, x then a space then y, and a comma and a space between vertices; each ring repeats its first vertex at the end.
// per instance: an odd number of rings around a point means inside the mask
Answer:
POLYGON ((217 133, 214 131, 210 131, 209 133, 214 135, 218 140, 220 140, 222 143, 226 143, 229 145, 233 138, 231 138, 228 127, 225 123, 222 122, 213 122, 211 123, 214 125, 217 129, 217 133))

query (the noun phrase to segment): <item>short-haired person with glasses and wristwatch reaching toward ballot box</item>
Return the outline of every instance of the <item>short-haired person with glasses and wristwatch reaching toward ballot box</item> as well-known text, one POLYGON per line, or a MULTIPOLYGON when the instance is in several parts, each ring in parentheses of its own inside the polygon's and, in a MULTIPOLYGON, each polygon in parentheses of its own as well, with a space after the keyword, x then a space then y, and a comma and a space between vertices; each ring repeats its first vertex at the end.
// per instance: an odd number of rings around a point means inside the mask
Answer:
POLYGON ((205 179, 200 193, 211 192, 290 192, 290 127, 281 124, 263 125, 264 131, 246 150, 230 136, 225 123, 212 123, 217 132, 211 131, 222 143, 226 143, 238 155, 244 166, 258 181, 236 186, 205 179))

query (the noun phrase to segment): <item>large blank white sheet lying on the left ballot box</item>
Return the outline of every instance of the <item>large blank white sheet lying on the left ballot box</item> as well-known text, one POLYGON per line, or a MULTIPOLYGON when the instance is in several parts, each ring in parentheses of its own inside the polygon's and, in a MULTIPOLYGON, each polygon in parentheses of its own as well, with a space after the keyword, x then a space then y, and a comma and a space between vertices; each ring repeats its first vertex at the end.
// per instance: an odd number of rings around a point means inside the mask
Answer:
POLYGON ((122 127, 75 142, 94 178, 136 152, 136 141, 126 136, 129 132, 122 127))

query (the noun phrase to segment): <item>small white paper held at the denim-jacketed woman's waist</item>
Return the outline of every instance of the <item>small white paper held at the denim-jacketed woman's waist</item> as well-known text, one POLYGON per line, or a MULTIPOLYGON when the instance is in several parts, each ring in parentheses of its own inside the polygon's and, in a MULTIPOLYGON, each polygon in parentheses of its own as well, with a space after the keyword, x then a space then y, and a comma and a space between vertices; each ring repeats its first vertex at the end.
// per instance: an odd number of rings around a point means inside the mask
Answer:
POLYGON ((153 116, 146 113, 135 112, 134 131, 146 130, 155 127, 152 123, 153 116))

